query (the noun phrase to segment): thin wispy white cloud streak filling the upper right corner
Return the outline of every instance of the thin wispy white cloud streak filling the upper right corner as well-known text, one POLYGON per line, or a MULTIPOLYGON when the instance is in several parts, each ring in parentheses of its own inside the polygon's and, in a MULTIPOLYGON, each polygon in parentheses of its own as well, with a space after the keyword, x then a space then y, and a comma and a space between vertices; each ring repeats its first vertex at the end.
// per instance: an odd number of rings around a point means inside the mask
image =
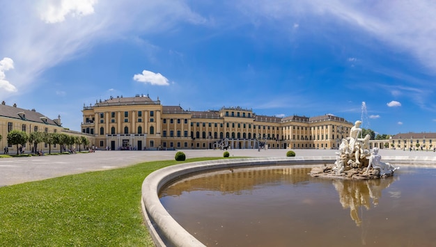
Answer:
POLYGON ((409 52, 421 64, 436 68, 436 2, 429 0, 364 1, 244 1, 240 9, 246 15, 283 20, 314 16, 341 22, 372 35, 394 49, 409 52), (387 12, 386 10, 389 11, 387 12))

